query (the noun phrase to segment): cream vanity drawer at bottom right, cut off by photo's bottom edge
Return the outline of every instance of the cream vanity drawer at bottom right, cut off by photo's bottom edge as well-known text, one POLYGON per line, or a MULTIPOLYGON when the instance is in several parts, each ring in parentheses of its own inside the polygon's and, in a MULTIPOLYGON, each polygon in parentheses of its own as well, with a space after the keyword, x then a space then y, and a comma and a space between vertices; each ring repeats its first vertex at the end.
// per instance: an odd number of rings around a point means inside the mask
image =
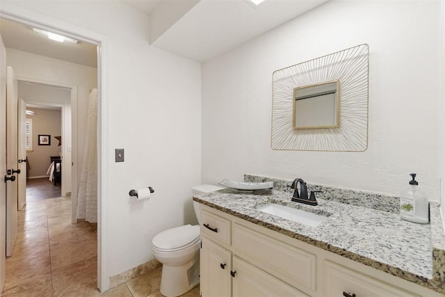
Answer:
POLYGON ((325 261, 325 289, 328 297, 417 296, 330 261, 325 261))

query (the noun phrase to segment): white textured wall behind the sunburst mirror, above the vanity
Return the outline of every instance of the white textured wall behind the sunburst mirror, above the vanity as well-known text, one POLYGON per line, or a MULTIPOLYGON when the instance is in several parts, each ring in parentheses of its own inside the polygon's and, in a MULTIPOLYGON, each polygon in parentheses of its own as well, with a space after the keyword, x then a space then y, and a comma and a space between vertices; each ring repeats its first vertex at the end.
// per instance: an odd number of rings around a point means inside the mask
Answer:
POLYGON ((202 179, 257 173, 399 195, 409 173, 438 200, 444 138, 439 1, 331 1, 202 66, 202 179), (270 149, 272 73, 367 43, 365 152, 270 149))

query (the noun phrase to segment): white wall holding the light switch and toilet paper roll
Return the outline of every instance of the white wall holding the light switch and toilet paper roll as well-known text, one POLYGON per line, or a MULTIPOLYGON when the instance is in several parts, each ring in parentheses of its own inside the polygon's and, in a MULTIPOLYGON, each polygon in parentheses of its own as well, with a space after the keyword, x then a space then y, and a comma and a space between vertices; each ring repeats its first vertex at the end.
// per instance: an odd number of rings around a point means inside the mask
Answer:
POLYGON ((103 131, 109 145, 102 152, 111 158, 104 175, 109 195, 102 197, 104 274, 147 262, 157 232, 194 220, 191 186, 201 176, 200 64, 150 47, 148 18, 118 1, 2 1, 2 8, 106 37, 103 131), (115 163, 114 149, 121 147, 125 161, 115 163), (131 188, 145 186, 154 188, 150 200, 129 198, 131 188))

